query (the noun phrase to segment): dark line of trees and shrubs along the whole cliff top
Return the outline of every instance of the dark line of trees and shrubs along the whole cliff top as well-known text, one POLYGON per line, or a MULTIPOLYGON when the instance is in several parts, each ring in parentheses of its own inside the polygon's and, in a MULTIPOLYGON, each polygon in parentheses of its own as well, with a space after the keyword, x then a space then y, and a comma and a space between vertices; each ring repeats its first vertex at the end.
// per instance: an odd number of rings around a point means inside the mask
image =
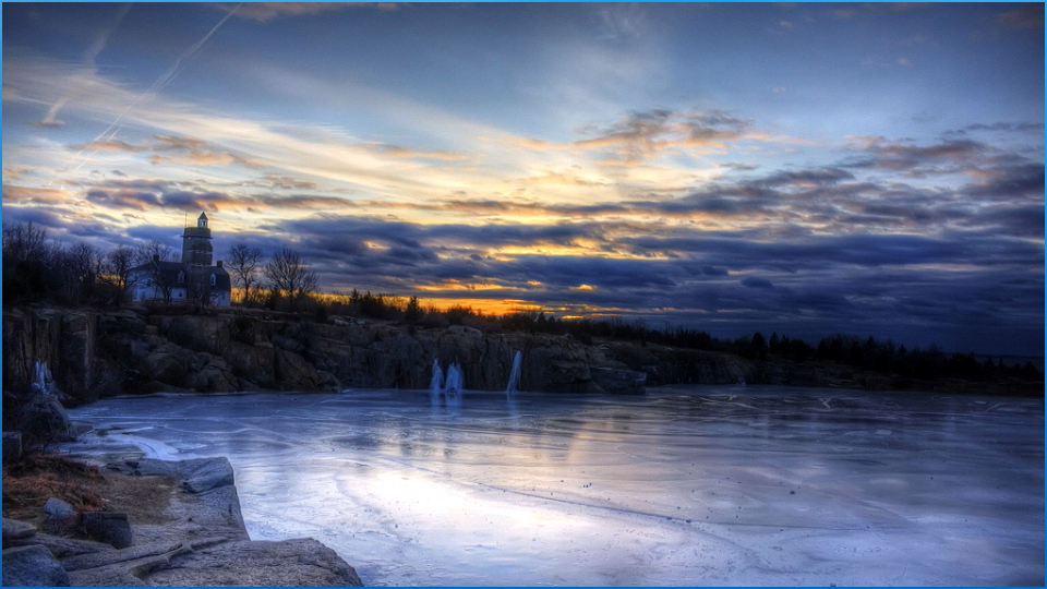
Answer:
MULTIPOLYGON (((471 306, 423 306, 418 297, 372 294, 353 289, 346 294, 318 291, 318 278, 302 255, 281 249, 266 257, 262 250, 244 243, 228 252, 225 268, 236 287, 233 302, 240 306, 311 313, 324 321, 328 315, 399 321, 409 327, 465 325, 484 332, 497 329, 570 335, 591 344, 594 338, 621 339, 677 348, 738 354, 751 360, 811 360, 852 365, 861 370, 934 380, 956 377, 966 381, 998 381, 1019 377, 1043 381, 1044 374, 1031 362, 1006 365, 1002 358, 978 360, 973 353, 943 352, 937 346, 912 348, 892 340, 831 335, 817 346, 777 333, 761 333, 736 339, 721 339, 700 329, 651 328, 642 320, 558 318, 543 311, 520 310, 504 315, 485 315, 471 306)), ((3 226, 4 304, 53 302, 69 306, 119 305, 135 286, 131 271, 156 261, 173 261, 174 250, 159 241, 136 247, 118 245, 106 252, 86 243, 62 245, 50 240, 45 229, 32 223, 3 226)), ((206 301, 203 302, 206 304, 206 301)))

